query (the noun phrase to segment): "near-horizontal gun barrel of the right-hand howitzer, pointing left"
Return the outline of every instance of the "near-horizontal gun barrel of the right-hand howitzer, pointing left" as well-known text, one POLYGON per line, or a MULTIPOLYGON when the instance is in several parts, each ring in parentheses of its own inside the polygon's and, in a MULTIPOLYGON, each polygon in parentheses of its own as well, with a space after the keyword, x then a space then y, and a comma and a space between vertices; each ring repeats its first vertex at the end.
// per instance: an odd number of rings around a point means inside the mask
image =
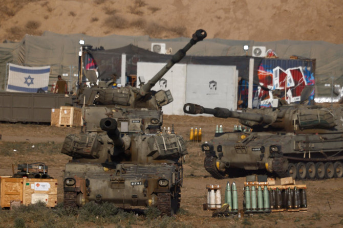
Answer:
POLYGON ((197 104, 187 103, 183 106, 183 111, 187 114, 211 114, 218 118, 235 118, 240 120, 255 121, 260 124, 271 124, 274 122, 274 118, 269 115, 262 115, 259 113, 248 113, 248 112, 238 112, 230 111, 227 108, 205 108, 197 104))

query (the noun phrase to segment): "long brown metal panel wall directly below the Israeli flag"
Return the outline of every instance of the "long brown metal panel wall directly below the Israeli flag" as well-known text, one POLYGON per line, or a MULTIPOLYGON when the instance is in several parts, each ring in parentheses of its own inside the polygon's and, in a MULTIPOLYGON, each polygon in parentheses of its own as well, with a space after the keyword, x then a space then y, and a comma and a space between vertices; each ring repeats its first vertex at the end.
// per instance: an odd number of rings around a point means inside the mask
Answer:
POLYGON ((65 95, 0 92, 0 121, 50 123, 52 108, 70 104, 65 95))

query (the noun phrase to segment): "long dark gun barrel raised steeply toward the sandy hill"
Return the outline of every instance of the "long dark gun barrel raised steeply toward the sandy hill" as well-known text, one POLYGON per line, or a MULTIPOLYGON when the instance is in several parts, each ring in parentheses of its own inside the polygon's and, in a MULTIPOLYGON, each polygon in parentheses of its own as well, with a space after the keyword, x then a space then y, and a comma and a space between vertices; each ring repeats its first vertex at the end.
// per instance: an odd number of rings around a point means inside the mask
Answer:
POLYGON ((179 62, 183 57, 185 57, 186 52, 192 47, 192 45, 196 44, 198 41, 203 40, 207 36, 207 33, 205 30, 199 29, 197 30, 193 35, 190 41, 185 45, 183 49, 180 49, 177 53, 171 57, 171 59, 167 62, 167 64, 152 78, 150 79, 146 84, 141 86, 140 88, 140 94, 137 96, 138 98, 141 98, 142 96, 146 95, 152 87, 169 71, 171 66, 173 66, 175 63, 179 62))

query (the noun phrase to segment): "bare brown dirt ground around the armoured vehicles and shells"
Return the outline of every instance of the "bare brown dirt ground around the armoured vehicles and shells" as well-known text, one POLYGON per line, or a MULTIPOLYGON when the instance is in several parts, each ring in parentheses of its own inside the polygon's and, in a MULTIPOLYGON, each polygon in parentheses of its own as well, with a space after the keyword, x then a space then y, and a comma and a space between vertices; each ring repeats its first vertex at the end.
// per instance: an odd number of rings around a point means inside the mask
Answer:
MULTIPOLYGON (((181 208, 188 213, 178 215, 178 220, 195 227, 342 227, 343 226, 343 179, 316 181, 298 181, 297 184, 307 185, 307 212, 282 212, 272 214, 254 214, 252 217, 212 218, 212 212, 203 211, 202 204, 206 202, 206 185, 222 186, 222 197, 226 181, 235 181, 238 186, 239 208, 242 208, 244 177, 217 180, 212 178, 203 168, 204 155, 200 150, 201 143, 189 142, 191 127, 201 127, 203 141, 210 140, 215 133, 216 125, 223 125, 224 131, 229 131, 237 124, 236 120, 211 117, 164 116, 164 125, 174 124, 175 131, 182 134, 187 142, 188 155, 184 165, 184 185, 181 193, 181 208)), ((16 151, 9 156, 2 145, 9 142, 28 142, 33 145, 45 142, 61 145, 68 133, 77 133, 79 128, 58 128, 35 124, 0 124, 0 175, 11 175, 12 164, 45 162, 49 174, 58 179, 58 202, 62 201, 62 177, 69 156, 61 153, 49 154, 27 151, 16 151)), ((15 146, 16 144, 14 144, 15 146)), ((6 147, 8 149, 8 147, 6 147)), ((224 197, 223 197, 224 198, 224 197)), ((108 226, 112 227, 112 226, 108 226)))

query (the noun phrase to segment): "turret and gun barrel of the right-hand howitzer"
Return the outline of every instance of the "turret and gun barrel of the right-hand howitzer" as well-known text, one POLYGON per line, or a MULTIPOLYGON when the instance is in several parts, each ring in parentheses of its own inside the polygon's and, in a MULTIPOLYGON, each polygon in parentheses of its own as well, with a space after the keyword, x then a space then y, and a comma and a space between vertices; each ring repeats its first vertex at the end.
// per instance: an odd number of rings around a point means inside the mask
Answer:
POLYGON ((218 118, 235 118, 253 131, 277 130, 295 133, 328 133, 343 131, 333 111, 320 106, 283 105, 278 108, 243 109, 242 112, 226 108, 205 108, 187 103, 183 111, 188 114, 210 114, 218 118))

